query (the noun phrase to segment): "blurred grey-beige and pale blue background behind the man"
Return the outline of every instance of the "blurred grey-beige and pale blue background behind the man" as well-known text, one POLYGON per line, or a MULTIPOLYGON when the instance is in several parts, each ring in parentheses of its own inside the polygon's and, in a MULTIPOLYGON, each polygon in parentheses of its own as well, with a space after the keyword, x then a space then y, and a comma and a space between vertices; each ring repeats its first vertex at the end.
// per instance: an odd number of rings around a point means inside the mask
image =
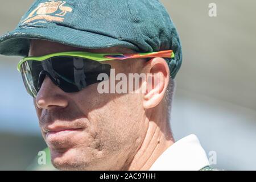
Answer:
MULTIPOLYGON (((32 0, 1 1, 0 34, 32 0)), ((196 134, 218 169, 256 169, 256 1, 162 0, 183 43, 171 126, 176 140, 196 134), (209 3, 217 16, 209 17, 209 3)), ((46 147, 16 71, 20 57, 0 56, 0 170, 27 169, 46 147)))

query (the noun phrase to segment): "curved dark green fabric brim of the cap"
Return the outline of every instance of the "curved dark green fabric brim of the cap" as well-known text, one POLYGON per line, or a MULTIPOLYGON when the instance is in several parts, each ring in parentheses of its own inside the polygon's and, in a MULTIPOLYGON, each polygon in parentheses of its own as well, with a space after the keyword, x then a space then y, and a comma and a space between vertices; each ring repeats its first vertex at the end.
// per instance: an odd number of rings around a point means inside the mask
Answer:
POLYGON ((123 46, 134 49, 135 51, 139 50, 137 46, 125 40, 57 25, 47 28, 27 27, 8 32, 0 38, 0 54, 27 56, 30 48, 30 39, 49 40, 68 46, 87 49, 123 46))

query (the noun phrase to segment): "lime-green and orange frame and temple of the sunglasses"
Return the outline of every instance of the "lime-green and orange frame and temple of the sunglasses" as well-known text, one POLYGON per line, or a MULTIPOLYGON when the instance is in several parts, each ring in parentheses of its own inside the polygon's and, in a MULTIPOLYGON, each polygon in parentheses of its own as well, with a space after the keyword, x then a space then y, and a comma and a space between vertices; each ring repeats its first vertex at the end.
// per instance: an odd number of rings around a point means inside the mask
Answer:
POLYGON ((125 60, 125 59, 135 59, 135 58, 150 58, 150 57, 175 57, 174 52, 172 50, 159 51, 159 52, 146 52, 146 53, 92 53, 92 52, 81 52, 81 51, 73 51, 73 52, 58 52, 51 53, 49 55, 44 56, 32 56, 32 57, 24 57, 18 63, 18 71, 20 72, 20 66, 22 63, 28 60, 33 61, 44 61, 51 57, 56 56, 74 56, 74 57, 82 57, 94 61, 109 61, 109 60, 125 60))

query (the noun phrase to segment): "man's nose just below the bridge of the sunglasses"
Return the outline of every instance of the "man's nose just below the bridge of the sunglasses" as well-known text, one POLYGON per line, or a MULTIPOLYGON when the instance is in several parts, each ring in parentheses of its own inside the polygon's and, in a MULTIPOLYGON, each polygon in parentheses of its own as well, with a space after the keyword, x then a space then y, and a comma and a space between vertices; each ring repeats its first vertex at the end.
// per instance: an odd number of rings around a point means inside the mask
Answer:
POLYGON ((40 109, 54 109, 57 107, 67 107, 68 100, 65 92, 53 84, 51 79, 46 76, 43 84, 36 96, 36 105, 40 109))

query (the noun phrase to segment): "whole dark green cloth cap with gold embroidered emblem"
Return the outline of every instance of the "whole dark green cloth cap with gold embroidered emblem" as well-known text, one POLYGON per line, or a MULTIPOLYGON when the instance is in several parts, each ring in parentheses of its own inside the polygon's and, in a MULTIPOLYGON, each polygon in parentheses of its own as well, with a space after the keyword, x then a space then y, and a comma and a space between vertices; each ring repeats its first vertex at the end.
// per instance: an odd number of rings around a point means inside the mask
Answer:
POLYGON ((179 35, 158 0, 38 0, 14 31, 0 37, 0 54, 27 56, 30 39, 88 49, 172 49, 175 57, 166 59, 172 78, 182 61, 179 35))

